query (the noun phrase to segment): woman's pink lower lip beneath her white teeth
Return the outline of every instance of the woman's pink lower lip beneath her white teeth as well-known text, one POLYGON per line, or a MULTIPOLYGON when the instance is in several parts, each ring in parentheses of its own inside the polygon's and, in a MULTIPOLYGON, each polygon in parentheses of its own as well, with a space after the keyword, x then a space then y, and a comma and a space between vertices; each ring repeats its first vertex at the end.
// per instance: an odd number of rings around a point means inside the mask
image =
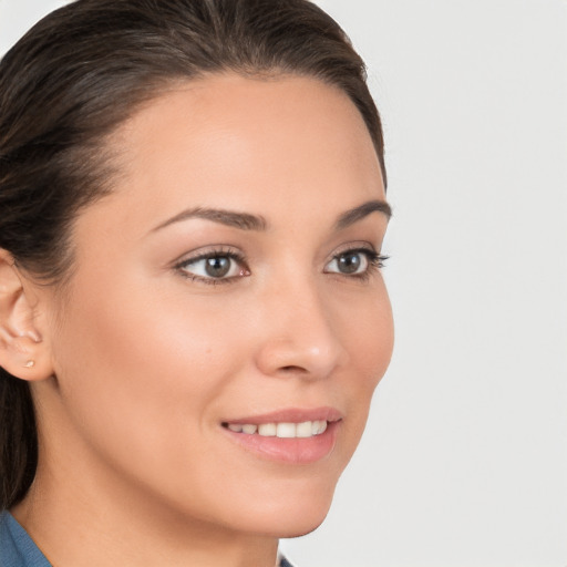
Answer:
POLYGON ((337 442, 338 421, 330 422, 327 430, 312 437, 265 437, 257 433, 236 433, 223 427, 225 433, 244 449, 270 461, 290 464, 316 463, 329 455, 337 442))

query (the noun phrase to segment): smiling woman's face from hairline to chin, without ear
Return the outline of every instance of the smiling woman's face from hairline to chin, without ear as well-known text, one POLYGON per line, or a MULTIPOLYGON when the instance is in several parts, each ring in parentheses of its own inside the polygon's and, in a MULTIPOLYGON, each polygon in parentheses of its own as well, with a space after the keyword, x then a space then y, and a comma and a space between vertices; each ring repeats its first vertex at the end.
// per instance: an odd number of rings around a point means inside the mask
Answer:
POLYGON ((53 477, 72 463, 64 482, 101 502, 309 532, 392 350, 384 187, 359 112, 313 79, 218 75, 111 146, 115 190, 76 219, 56 381, 35 392, 53 477))

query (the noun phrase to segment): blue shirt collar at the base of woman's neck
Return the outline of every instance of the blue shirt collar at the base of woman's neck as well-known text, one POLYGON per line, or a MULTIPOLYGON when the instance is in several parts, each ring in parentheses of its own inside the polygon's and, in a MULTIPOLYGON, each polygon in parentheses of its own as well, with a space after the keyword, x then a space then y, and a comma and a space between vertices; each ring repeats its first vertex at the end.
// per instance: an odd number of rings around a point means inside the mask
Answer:
MULTIPOLYGON (((278 565, 292 567, 285 557, 280 557, 278 565)), ((28 532, 7 511, 0 513, 0 567, 52 567, 28 532)))

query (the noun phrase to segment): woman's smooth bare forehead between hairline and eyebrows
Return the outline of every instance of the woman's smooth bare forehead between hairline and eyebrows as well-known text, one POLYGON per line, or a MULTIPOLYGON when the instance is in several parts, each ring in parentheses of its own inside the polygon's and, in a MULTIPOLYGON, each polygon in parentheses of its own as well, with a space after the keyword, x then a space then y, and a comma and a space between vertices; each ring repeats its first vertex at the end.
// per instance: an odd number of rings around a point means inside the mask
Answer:
POLYGON ((128 210, 145 207, 157 220, 187 206, 269 216, 293 205, 312 214, 321 200, 339 212, 383 197, 359 111, 342 91, 310 78, 226 74, 182 83, 111 143, 121 156, 116 193, 130 195, 128 210))

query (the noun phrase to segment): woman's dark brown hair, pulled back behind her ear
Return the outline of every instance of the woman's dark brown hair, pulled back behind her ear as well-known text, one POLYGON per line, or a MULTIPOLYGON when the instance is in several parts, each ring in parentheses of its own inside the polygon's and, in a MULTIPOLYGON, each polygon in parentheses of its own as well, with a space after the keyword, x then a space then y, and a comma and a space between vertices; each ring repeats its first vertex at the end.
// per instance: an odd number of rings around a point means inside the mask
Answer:
MULTIPOLYGON (((69 228, 111 190, 104 140, 167 84, 208 73, 292 73, 341 89, 374 143, 380 117, 361 58, 307 0, 79 0, 34 25, 0 63, 0 248, 49 285, 72 267, 69 228)), ((38 462, 28 384, 0 369, 0 509, 38 462)))

